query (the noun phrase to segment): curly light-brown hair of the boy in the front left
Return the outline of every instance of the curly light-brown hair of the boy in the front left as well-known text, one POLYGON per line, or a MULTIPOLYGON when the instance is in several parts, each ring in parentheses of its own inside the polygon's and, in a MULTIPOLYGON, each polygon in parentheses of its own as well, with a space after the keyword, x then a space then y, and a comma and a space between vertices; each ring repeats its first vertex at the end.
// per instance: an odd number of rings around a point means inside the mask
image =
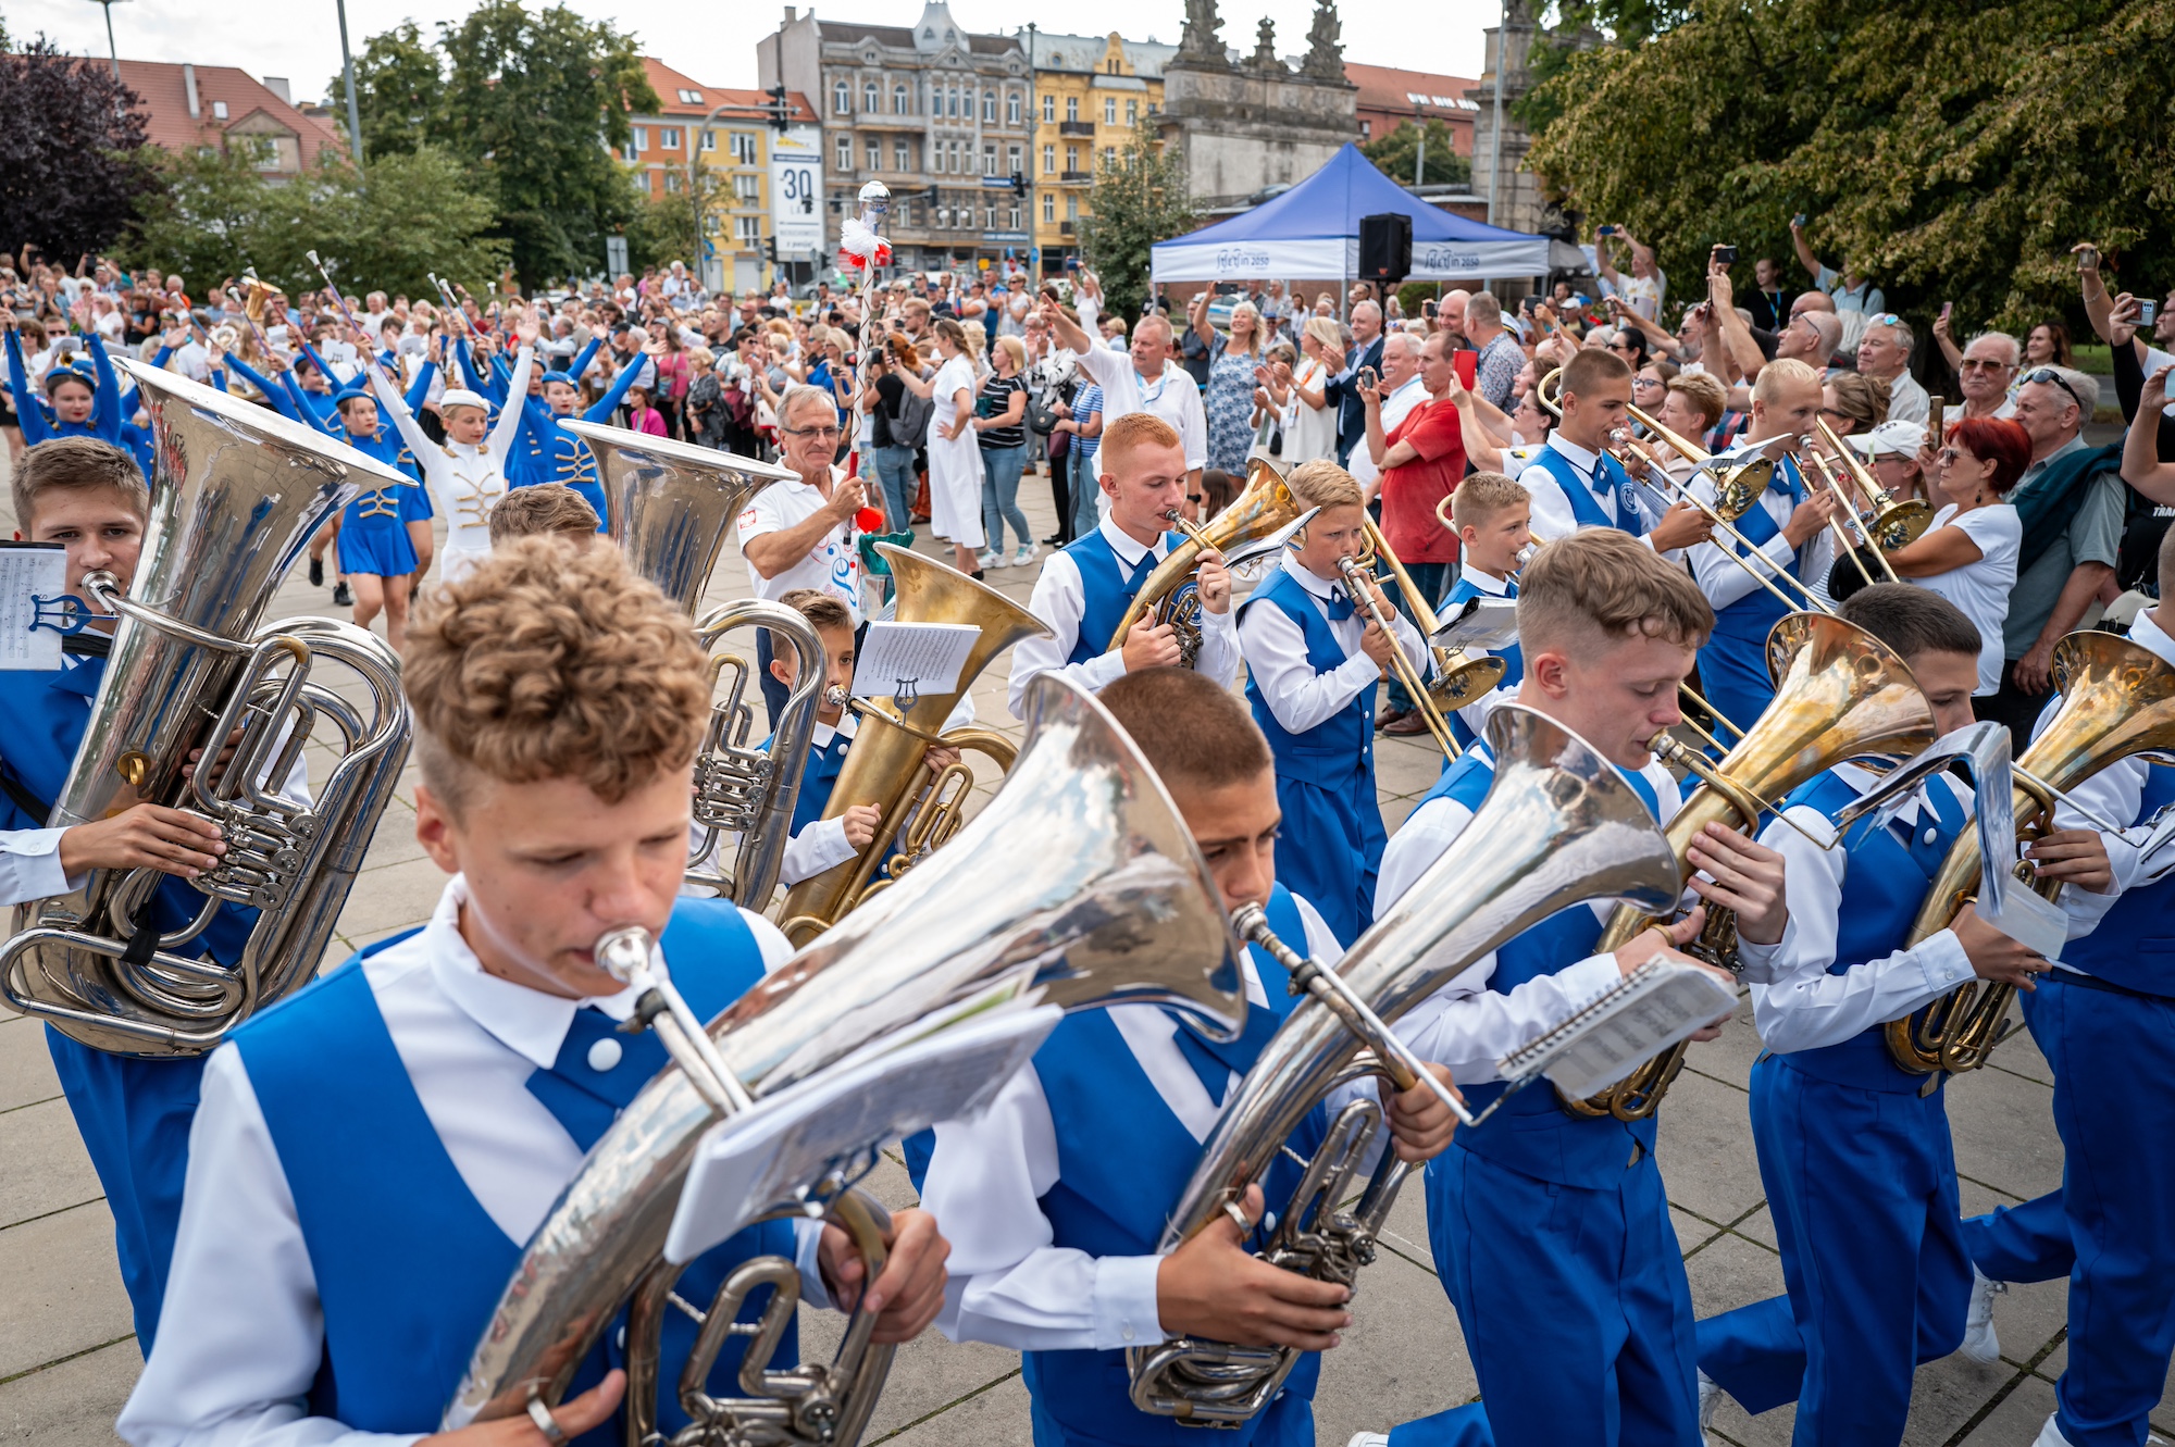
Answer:
POLYGON ((687 615, 616 548, 513 539, 424 593, 400 682, 422 782, 455 817, 476 778, 570 778, 618 804, 694 760, 709 669, 687 615))

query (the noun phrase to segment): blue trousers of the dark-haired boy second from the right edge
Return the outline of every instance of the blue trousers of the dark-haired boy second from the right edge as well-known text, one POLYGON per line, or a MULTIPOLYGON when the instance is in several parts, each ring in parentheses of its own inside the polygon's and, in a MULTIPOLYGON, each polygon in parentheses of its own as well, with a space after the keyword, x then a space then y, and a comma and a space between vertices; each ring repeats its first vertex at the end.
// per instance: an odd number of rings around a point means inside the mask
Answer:
POLYGON ((1753 1065, 1753 1143, 1788 1295, 1699 1323, 1699 1369, 1747 1412, 1797 1401, 1797 1447, 1903 1440, 1912 1371, 1964 1341, 1971 1260, 1940 1093, 1753 1065))

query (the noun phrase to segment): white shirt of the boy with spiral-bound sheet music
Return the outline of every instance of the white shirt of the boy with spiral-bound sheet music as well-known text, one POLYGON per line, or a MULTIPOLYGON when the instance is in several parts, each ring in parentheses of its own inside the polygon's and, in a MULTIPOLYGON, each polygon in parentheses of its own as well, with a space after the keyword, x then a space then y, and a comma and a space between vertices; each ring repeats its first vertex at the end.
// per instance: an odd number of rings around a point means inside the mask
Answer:
MULTIPOLYGON (((1488 758, 1486 743, 1472 747, 1481 758, 1488 758)), ((1662 806, 1660 821, 1668 823, 1681 804, 1675 776, 1660 760, 1649 760, 1640 773, 1662 806)), ((1390 847, 1381 856, 1375 913, 1381 915, 1401 899, 1427 867, 1464 834, 1468 823, 1472 823, 1472 810, 1457 800, 1429 800, 1416 808, 1390 836, 1390 847)), ((1577 908, 1590 908, 1605 926, 1616 913, 1616 902, 1596 899, 1577 908)), ((1747 962, 1764 962, 1779 947, 1740 943, 1747 962)), ((1494 967, 1492 952, 1481 956, 1399 1021, 1399 1034, 1420 1058, 1446 1065, 1457 1084, 1499 1080, 1496 1062, 1503 1056, 1557 1028, 1623 980, 1614 954, 1594 954, 1551 976, 1527 980, 1509 993, 1499 993, 1488 989, 1494 967)))

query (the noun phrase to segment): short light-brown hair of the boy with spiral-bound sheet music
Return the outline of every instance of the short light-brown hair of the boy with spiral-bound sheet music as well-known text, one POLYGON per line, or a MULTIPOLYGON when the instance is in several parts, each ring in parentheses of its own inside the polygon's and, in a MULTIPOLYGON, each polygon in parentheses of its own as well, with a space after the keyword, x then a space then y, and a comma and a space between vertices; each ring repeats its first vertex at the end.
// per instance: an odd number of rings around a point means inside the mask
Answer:
MULTIPOLYGON (((1470 480, 1470 478, 1468 478, 1470 480)), ((1681 567, 1618 528, 1581 528, 1542 545, 1518 576, 1518 641, 1590 658, 1627 639, 1699 647, 1714 608, 1681 567)))

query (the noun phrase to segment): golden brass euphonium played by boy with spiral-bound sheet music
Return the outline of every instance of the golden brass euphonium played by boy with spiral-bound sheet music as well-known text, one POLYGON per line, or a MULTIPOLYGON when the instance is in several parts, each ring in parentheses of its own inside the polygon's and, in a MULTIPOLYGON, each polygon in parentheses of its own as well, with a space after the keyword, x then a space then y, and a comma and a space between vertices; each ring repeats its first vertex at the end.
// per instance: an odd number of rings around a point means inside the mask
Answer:
MULTIPOLYGON (((1720 763, 1707 765, 1666 734, 1653 750, 1668 763, 1688 765, 1703 780, 1668 821, 1668 843, 1677 852, 1679 880, 1696 865, 1688 850, 1710 823, 1757 832, 1783 795, 1849 758, 1907 758, 1934 743, 1934 706, 1894 650, 1855 624, 1825 613, 1792 613, 1768 634, 1768 669, 1775 702, 1738 739, 1720 763)), ((1594 954, 1627 945, 1655 923, 1653 913, 1616 910, 1594 954)), ((1710 908, 1699 939, 1686 947, 1707 965, 1738 969, 1736 919, 1710 908)), ((1655 1112, 1677 1071, 1686 1045, 1662 1052, 1601 1095, 1566 1099, 1577 1117, 1614 1115, 1638 1121, 1655 1112)))

